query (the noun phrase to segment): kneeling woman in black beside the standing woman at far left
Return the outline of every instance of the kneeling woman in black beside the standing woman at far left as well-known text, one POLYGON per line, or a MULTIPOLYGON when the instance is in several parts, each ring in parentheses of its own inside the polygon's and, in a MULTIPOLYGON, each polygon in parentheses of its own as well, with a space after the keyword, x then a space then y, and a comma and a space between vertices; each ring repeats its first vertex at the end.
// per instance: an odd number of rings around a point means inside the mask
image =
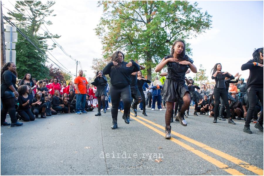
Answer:
POLYGON ((32 104, 32 95, 30 94, 30 87, 28 85, 21 85, 18 87, 18 102, 19 106, 17 112, 19 114, 19 120, 23 120, 25 122, 35 120, 33 113, 30 110, 30 106, 32 104))

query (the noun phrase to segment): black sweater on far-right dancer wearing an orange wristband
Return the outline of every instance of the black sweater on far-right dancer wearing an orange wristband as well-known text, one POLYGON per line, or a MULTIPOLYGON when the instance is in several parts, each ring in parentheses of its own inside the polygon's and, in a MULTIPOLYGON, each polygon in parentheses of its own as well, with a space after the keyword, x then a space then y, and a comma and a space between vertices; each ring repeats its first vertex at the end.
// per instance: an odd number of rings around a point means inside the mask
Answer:
POLYGON ((263 87, 263 67, 254 66, 254 60, 248 61, 241 66, 241 70, 249 69, 249 77, 246 85, 246 89, 249 87, 263 87))

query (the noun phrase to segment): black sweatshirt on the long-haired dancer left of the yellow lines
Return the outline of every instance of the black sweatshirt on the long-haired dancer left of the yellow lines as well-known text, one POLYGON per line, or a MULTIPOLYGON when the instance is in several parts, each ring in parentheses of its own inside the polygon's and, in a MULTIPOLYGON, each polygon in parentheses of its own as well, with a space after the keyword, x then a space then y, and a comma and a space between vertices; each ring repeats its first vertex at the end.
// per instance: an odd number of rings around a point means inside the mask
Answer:
POLYGON ((103 74, 108 75, 111 78, 110 83, 112 86, 122 84, 122 85, 130 85, 131 78, 130 75, 133 72, 139 71, 140 67, 136 62, 132 62, 131 67, 126 67, 128 62, 122 62, 121 67, 114 66, 113 62, 107 64, 103 69, 103 74))

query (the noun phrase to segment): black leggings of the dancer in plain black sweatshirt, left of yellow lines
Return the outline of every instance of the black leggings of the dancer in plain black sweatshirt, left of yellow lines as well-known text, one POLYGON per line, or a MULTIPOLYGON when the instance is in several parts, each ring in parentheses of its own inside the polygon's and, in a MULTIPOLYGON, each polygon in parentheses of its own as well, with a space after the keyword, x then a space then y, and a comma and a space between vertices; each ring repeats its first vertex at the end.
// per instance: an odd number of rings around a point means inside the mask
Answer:
POLYGON ((111 102, 112 102, 112 108, 111 108, 111 115, 112 119, 117 120, 117 114, 118 114, 118 106, 120 102, 120 98, 123 100, 124 104, 124 116, 128 115, 130 111, 131 106, 131 90, 130 85, 127 85, 125 87, 118 87, 118 86, 110 86, 110 95, 111 95, 111 102))

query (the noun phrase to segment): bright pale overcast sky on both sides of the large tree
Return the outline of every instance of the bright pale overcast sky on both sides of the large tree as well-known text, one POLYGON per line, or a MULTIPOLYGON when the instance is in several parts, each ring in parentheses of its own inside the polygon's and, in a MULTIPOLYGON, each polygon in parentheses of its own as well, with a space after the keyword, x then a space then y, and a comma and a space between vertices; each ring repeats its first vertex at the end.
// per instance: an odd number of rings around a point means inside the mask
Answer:
MULTIPOLYGON (((15 1, 2 2, 10 10, 14 9, 11 3, 14 5, 15 1)), ((187 41, 192 47, 193 55, 190 57, 194 65, 199 69, 202 64, 207 69, 209 81, 212 81, 210 71, 216 63, 222 64, 222 71, 229 71, 233 75, 239 72, 242 78, 248 78, 249 71, 241 71, 241 65, 252 59, 254 48, 263 47, 263 1, 197 2, 202 11, 207 10, 213 16, 213 27, 187 41)), ((61 35, 56 41, 81 62, 87 77, 94 77, 92 59, 102 57, 101 42, 94 28, 99 23, 103 9, 97 6, 97 1, 56 1, 52 8, 53 14, 57 16, 48 19, 53 25, 46 25, 51 33, 61 35)), ((6 14, 6 9, 3 12, 6 14)), ((60 48, 57 47, 51 53, 75 74, 76 63, 60 48)), ((194 74, 188 76, 193 77, 194 74)))

